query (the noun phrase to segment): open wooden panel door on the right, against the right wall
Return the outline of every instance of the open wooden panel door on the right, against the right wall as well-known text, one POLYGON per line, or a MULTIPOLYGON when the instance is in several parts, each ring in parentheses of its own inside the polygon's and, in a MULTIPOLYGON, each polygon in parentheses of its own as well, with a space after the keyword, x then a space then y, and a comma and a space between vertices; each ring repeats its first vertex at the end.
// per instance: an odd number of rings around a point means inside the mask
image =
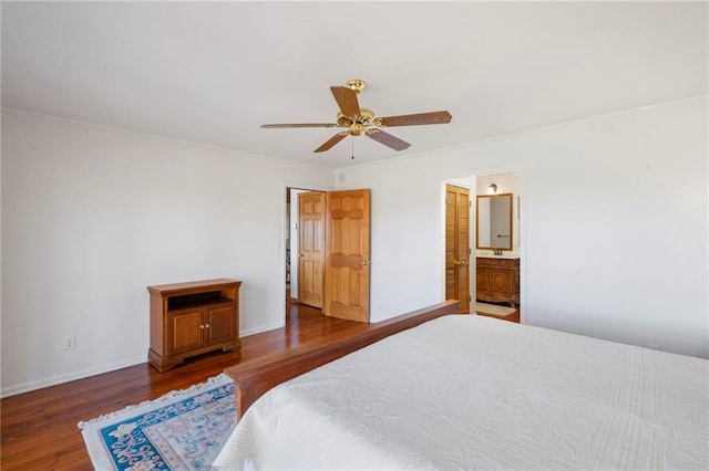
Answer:
POLYGON ((368 189, 327 193, 325 315, 369 322, 368 189))

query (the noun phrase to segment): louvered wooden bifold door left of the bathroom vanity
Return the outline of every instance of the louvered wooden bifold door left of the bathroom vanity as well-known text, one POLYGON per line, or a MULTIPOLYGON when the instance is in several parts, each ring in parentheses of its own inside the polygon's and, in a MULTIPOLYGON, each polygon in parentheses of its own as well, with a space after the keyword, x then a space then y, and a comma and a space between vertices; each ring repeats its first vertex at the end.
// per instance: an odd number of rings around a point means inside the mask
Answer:
POLYGON ((445 186, 445 299, 470 313, 470 190, 445 186))

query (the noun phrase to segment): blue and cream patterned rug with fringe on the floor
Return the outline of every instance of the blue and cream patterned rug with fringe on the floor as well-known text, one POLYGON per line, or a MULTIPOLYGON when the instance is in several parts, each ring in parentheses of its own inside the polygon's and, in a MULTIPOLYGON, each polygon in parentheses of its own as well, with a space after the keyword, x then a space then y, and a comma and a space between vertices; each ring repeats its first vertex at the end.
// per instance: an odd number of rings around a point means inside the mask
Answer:
POLYGON ((100 471, 208 470, 234 427, 234 381, 224 374, 79 422, 100 471))

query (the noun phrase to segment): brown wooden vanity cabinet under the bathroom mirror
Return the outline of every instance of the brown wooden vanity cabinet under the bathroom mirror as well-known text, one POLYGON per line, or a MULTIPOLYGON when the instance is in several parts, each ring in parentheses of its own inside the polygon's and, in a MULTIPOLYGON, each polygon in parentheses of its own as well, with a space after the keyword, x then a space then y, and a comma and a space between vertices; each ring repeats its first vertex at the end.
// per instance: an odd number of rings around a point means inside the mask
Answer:
POLYGON ((477 257, 476 272, 479 301, 520 304, 520 259, 477 257))

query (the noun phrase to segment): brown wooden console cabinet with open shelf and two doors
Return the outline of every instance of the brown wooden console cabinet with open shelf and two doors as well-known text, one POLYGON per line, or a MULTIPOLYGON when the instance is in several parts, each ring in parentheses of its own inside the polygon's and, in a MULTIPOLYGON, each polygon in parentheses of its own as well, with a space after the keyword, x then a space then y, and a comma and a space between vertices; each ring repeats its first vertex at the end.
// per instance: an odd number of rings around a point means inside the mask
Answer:
POLYGON ((150 364, 164 373, 194 355, 240 348, 240 281, 219 279, 147 286, 150 364))

